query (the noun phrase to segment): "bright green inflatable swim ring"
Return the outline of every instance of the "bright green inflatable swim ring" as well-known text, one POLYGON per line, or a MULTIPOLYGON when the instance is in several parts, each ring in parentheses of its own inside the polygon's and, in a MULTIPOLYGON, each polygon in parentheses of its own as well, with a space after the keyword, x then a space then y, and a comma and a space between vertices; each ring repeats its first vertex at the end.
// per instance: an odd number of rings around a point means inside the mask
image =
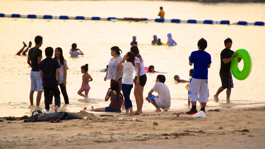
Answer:
POLYGON ((252 69, 252 59, 251 56, 249 54, 249 52, 245 49, 238 49, 236 50, 233 55, 235 53, 238 53, 237 57, 240 57, 243 59, 244 61, 244 67, 242 69, 242 71, 239 70, 238 68, 238 59, 233 58, 231 61, 231 72, 233 74, 233 76, 237 79, 237 80, 245 80, 246 78, 248 78, 248 76, 250 75, 251 69, 252 69))

